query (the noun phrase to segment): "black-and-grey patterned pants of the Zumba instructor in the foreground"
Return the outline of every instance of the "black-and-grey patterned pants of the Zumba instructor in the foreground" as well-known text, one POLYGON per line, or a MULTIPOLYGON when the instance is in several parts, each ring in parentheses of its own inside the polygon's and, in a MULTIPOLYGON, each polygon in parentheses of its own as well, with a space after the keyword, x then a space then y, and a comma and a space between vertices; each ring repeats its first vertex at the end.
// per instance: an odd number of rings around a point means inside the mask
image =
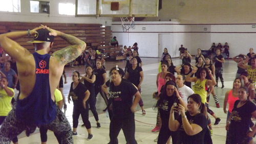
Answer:
MULTIPOLYGON (((58 107, 56 119, 50 124, 43 126, 56 133, 57 138, 60 139, 60 143, 74 143, 69 121, 58 107)), ((10 143, 14 137, 24 130, 26 130, 26 135, 29 136, 35 131, 36 127, 35 124, 19 121, 16 117, 16 105, 14 105, 0 129, 0 143, 10 143)))

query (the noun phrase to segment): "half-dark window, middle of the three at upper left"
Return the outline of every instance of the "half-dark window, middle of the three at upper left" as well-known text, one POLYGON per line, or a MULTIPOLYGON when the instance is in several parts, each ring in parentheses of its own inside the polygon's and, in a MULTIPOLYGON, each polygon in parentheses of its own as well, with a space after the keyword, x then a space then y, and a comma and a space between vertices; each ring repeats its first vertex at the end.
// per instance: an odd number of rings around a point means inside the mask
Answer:
POLYGON ((30 12, 50 13, 50 2, 30 1, 30 12))

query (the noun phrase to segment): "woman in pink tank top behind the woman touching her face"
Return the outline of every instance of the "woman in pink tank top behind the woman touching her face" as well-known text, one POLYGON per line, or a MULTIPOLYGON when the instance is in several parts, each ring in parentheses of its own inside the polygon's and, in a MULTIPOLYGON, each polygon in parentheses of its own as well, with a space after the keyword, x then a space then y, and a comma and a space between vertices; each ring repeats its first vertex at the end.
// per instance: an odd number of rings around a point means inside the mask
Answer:
POLYGON ((161 88, 163 85, 165 85, 165 75, 167 73, 170 73, 169 71, 167 71, 168 69, 168 63, 163 61, 161 64, 162 67, 162 72, 157 74, 157 90, 158 90, 158 95, 160 94, 161 88))

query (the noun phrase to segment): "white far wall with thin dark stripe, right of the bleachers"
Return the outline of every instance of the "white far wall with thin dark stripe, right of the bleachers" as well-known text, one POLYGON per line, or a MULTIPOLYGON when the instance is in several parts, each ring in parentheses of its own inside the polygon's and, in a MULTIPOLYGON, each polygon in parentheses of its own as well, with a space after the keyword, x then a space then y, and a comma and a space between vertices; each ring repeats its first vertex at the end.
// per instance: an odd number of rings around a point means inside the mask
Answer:
MULTIPOLYGON (((172 21, 135 21, 135 29, 124 33, 120 22, 113 22, 111 29, 113 36, 117 36, 119 43, 139 44, 142 57, 158 57, 158 34, 172 35, 173 43, 168 49, 175 49, 179 55, 180 44, 188 48, 191 55, 196 55, 197 49, 208 50, 211 43, 225 42, 230 46, 230 57, 247 54, 250 47, 255 47, 256 28, 252 25, 184 25, 172 21), (165 25, 159 25, 165 24, 165 25), (142 27, 146 30, 142 30, 142 27)), ((162 47, 163 49, 164 47, 162 47)))

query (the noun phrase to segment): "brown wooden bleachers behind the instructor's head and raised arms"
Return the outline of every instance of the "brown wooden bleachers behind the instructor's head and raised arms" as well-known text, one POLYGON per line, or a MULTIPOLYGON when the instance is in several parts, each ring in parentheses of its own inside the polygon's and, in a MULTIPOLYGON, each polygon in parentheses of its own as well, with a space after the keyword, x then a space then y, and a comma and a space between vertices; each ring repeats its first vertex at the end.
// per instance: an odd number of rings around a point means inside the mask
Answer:
MULTIPOLYGON (((101 24, 90 23, 39 23, 39 22, 0 22, 0 33, 6 33, 8 31, 27 31, 40 25, 48 26, 52 29, 61 31, 73 35, 86 43, 91 43, 91 46, 101 46, 109 43, 112 38, 112 31, 110 27, 102 28, 101 24)), ((31 40, 31 37, 20 38, 17 42, 26 47, 30 52, 34 52, 34 46, 27 41, 31 40)), ((63 47, 70 45, 67 41, 60 37, 54 39, 53 51, 60 50, 63 47)))

